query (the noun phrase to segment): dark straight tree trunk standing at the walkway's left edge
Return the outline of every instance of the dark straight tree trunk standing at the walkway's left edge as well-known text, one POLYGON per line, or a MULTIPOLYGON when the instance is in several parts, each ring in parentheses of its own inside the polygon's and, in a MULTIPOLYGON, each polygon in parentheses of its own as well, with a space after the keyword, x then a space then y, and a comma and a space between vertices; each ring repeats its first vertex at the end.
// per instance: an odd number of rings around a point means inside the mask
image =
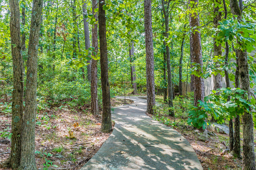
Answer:
POLYGON ((103 10, 105 0, 99 1, 99 36, 100 36, 100 70, 101 70, 101 88, 102 88, 102 132, 111 132, 111 104, 110 89, 108 82, 108 47, 106 37, 106 14, 103 10))

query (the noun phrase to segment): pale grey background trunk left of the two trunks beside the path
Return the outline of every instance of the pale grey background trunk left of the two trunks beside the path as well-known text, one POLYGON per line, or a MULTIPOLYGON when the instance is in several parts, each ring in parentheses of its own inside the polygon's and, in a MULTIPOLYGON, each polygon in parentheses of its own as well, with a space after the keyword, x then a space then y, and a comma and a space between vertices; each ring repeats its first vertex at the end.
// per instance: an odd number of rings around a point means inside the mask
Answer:
MULTIPOLYGON (((83 31, 84 31, 85 49, 89 49, 89 46, 90 46, 89 23, 87 21, 87 18, 85 18, 85 15, 88 15, 87 5, 86 5, 86 0, 83 0, 83 31)), ((87 63, 89 63, 87 65, 87 79, 89 82, 91 82, 91 60, 88 60, 87 63)))

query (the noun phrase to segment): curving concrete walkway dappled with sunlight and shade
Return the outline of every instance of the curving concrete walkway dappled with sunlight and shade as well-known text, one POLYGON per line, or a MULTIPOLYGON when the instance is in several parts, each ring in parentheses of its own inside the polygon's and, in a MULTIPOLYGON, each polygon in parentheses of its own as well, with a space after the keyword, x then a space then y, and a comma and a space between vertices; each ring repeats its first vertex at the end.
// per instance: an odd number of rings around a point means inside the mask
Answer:
POLYGON ((145 97, 130 99, 112 112, 113 133, 81 170, 203 170, 180 133, 145 114, 145 97))

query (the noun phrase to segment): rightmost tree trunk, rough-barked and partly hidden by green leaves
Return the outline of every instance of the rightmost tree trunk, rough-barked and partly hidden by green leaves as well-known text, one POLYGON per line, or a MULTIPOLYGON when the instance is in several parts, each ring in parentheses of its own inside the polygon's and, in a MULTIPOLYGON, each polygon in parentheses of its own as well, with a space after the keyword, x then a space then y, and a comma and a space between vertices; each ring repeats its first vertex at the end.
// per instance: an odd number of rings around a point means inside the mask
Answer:
MULTIPOLYGON (((241 10, 237 0, 230 0, 230 9, 233 15, 237 15, 240 20, 242 18, 241 10)), ((238 40, 237 40, 238 41, 238 40)), ((236 51, 239 72, 240 72, 240 88, 247 91, 250 97, 250 79, 249 79, 249 66, 247 60, 247 51, 236 51)), ((249 99, 248 99, 249 100, 249 99)), ((244 112, 243 118, 243 170, 255 170, 255 155, 254 155, 254 138, 253 138, 253 119, 252 114, 244 112)))

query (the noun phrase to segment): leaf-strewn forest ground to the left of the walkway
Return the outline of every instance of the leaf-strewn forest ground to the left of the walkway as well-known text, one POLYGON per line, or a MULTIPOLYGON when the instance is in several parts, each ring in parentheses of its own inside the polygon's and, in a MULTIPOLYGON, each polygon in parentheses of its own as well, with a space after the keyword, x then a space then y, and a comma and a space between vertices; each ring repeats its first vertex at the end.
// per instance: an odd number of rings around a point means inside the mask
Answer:
MULTIPOLYGON (((111 99, 112 107, 122 104, 122 99, 111 99)), ((35 126, 35 160, 39 170, 50 170, 57 166, 61 170, 78 170, 108 139, 111 133, 100 132, 102 112, 92 115, 88 111, 89 107, 89 104, 81 107, 59 104, 38 112, 35 126)), ((0 132, 3 132, 0 137, 2 162, 9 157, 11 151, 11 141, 8 139, 11 133, 11 110, 8 102, 3 101, 0 101, 0 132)))

